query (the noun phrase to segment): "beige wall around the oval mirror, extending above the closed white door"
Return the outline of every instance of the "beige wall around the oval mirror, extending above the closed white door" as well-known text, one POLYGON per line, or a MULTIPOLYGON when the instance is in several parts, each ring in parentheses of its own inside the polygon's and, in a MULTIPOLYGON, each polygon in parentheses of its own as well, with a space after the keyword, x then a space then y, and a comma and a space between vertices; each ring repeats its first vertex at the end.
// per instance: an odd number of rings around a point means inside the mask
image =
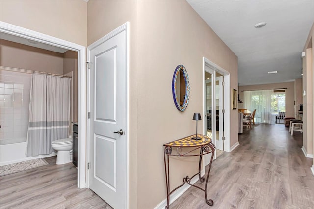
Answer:
MULTIPOLYGON (((237 57, 185 1, 91 0, 88 44, 126 21, 131 31, 130 207, 154 208, 166 198, 162 145, 193 134, 193 113, 203 108, 202 57, 231 72, 231 88, 237 85, 237 57), (176 15, 178 9, 185 15, 176 15), (104 24, 104 20, 110 21, 104 24), (178 31, 183 32, 178 35, 178 31), (185 112, 176 109, 171 92, 172 75, 179 64, 186 67, 191 85, 185 112), (154 195, 148 192, 152 188, 154 195)), ((232 111, 231 118, 236 113, 232 111)), ((237 127, 231 136, 233 145, 237 127)), ((195 162, 188 158, 172 161, 172 185, 195 172, 195 162)))

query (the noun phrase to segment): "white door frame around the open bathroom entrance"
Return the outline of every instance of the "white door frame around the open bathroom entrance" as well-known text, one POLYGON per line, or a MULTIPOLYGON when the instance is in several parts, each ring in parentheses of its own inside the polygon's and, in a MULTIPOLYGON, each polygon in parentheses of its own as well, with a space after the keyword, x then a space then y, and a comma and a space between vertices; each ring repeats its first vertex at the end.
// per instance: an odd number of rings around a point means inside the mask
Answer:
POLYGON ((78 52, 78 188, 86 188, 86 47, 2 21, 0 32, 78 52))

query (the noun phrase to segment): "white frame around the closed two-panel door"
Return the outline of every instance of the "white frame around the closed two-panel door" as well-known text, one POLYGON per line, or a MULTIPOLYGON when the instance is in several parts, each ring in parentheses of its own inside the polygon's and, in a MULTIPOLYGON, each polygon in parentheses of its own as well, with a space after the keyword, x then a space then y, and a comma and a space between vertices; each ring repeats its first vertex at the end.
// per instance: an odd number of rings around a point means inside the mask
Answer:
MULTIPOLYGON (((108 39, 112 38, 113 36, 117 35, 118 33, 122 31, 126 31, 126 115, 125 115, 125 136, 126 136, 126 208, 129 207, 129 81, 130 81, 130 23, 126 22, 125 24, 117 27, 113 31, 109 32, 107 35, 104 37, 100 38, 99 40, 95 41, 91 45, 87 47, 87 60, 88 62, 90 61, 90 51, 97 47, 98 45, 104 43, 108 39)), ((87 72, 87 92, 90 91, 90 70, 87 72)), ((90 95, 88 94, 87 96, 87 112, 90 112, 90 95)), ((87 162, 90 161, 90 120, 87 119, 87 138, 86 138, 86 160, 87 162)), ((90 177, 90 170, 86 170, 86 188, 89 188, 89 177, 90 177)))

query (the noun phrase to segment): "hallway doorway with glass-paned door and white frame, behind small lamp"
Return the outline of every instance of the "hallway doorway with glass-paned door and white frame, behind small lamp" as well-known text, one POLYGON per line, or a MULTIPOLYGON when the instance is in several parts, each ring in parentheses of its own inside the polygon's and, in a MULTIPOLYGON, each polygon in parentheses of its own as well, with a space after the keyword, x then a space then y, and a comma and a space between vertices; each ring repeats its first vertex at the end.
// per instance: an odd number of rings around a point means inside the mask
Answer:
MULTIPOLYGON (((224 151, 230 152, 230 73, 205 57, 203 71, 204 135, 215 144, 216 159, 224 151)), ((206 156, 204 162, 209 164, 206 156)))

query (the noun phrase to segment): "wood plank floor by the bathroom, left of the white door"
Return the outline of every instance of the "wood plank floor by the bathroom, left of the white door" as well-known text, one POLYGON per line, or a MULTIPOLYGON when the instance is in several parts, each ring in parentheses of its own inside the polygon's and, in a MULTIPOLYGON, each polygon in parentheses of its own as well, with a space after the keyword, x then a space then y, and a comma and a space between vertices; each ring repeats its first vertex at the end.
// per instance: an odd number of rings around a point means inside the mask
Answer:
POLYGON ((77 188, 77 169, 72 163, 49 165, 0 177, 1 209, 111 209, 90 189, 77 188))

